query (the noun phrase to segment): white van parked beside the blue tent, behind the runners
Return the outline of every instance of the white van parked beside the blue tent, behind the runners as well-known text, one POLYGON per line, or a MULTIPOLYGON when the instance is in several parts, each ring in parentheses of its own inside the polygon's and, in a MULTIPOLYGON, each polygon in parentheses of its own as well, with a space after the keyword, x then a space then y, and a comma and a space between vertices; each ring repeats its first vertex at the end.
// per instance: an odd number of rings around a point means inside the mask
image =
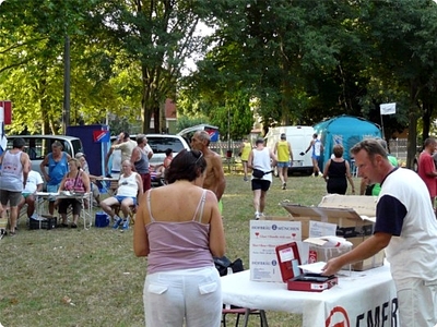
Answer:
MULTIPOLYGON (((309 143, 312 140, 315 130, 312 126, 279 126, 270 128, 265 135, 267 147, 274 150, 274 145, 281 140, 281 134, 285 133, 286 141, 292 145, 293 152, 293 165, 288 168, 288 174, 294 173, 312 173, 312 161, 311 152, 308 152, 305 156, 300 156, 300 153, 305 153, 308 148, 309 143)), ((276 172, 275 172, 276 174, 276 172)))

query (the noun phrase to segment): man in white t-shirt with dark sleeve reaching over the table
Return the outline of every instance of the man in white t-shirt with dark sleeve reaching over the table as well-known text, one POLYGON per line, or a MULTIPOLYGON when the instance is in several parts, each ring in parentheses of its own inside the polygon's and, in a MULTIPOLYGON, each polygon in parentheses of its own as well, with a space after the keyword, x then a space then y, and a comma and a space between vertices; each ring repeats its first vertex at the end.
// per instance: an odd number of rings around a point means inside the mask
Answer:
POLYGON ((385 249, 397 288, 399 326, 436 326, 437 221, 428 190, 414 171, 393 167, 375 138, 357 143, 351 154, 363 178, 381 183, 374 234, 330 259, 323 275, 385 249))

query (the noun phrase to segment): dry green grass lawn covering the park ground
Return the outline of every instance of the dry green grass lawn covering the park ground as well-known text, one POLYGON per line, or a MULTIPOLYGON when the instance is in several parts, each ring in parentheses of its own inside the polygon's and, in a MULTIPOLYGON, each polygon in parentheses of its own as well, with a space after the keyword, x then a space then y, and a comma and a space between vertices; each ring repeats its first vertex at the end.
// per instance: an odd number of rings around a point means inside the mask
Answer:
MULTIPOLYGON (((227 175, 223 220, 231 259, 249 268, 249 220, 253 217, 250 182, 227 175)), ((358 186, 358 180, 355 185, 358 186)), ((274 179, 265 214, 286 215, 288 199, 317 205, 326 194, 323 179, 293 177, 288 190, 274 179)), ((350 192, 350 190, 349 190, 350 192)), ((132 230, 108 228, 27 230, 20 219, 16 237, 0 241, 0 324, 17 326, 144 326, 142 289, 146 258, 132 250, 132 230)), ((267 312, 272 327, 302 325, 299 315, 267 312)), ((249 326, 259 326, 256 317, 249 326)), ((208 326, 205 326, 208 327, 208 326)))

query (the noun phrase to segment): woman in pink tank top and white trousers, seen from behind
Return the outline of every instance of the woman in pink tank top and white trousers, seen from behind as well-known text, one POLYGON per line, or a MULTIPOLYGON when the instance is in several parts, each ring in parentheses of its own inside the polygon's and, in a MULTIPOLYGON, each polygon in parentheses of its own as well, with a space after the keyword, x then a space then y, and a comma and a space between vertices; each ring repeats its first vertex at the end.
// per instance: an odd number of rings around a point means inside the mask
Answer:
POLYGON ((143 290, 149 327, 221 324, 213 256, 224 255, 225 237, 217 198, 202 189, 205 168, 201 152, 182 150, 166 170, 168 184, 140 199, 133 250, 149 257, 143 290))

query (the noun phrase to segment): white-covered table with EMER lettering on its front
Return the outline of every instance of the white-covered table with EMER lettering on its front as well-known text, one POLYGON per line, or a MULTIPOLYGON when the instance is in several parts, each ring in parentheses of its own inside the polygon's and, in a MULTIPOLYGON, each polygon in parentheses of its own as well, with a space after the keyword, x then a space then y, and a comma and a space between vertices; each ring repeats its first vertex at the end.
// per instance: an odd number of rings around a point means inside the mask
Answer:
POLYGON ((222 277, 222 292, 225 304, 303 314, 304 327, 368 326, 368 319, 374 326, 382 326, 382 322, 383 326, 399 326, 388 265, 340 276, 339 284, 323 292, 288 291, 285 283, 251 281, 250 270, 245 270, 222 277), (391 324, 392 319, 398 324, 391 324))

